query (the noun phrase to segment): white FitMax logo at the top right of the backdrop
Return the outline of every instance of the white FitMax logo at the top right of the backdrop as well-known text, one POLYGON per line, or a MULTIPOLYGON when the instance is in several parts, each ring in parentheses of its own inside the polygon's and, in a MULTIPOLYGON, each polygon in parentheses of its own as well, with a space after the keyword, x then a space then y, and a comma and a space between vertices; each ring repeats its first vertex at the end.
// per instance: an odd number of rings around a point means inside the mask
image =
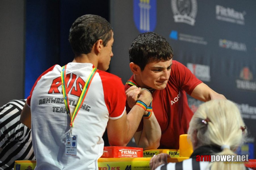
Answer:
POLYGON ((244 16, 246 12, 238 12, 233 8, 223 7, 221 5, 216 5, 216 19, 231 22, 235 24, 245 25, 244 16))

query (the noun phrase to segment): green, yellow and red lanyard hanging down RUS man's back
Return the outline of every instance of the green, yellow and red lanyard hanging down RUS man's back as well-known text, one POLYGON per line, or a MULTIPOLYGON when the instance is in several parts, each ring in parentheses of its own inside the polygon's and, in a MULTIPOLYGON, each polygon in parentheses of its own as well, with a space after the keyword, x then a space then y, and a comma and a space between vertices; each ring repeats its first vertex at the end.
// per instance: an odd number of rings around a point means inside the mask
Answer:
POLYGON ((89 77, 87 78, 87 80, 85 82, 85 85, 83 87, 83 91, 81 92, 81 95, 79 97, 79 100, 77 102, 75 110, 74 110, 73 114, 71 114, 70 107, 69 107, 69 100, 68 100, 68 90, 67 90, 68 81, 66 80, 66 68, 67 68, 67 65, 64 65, 62 67, 62 70, 61 70, 61 84, 62 84, 62 93, 63 93, 65 107, 66 107, 66 110, 67 110, 67 112, 68 112, 68 114, 69 114, 69 116, 71 118, 71 121, 70 121, 70 133, 69 133, 69 136, 71 136, 72 135, 72 129, 74 127, 75 117, 77 116, 77 113, 78 113, 78 111, 80 110, 80 108, 81 108, 81 106, 83 104, 83 101, 84 101, 85 96, 86 96, 86 94, 88 92, 89 86, 91 85, 93 77, 95 76, 95 74, 98 71, 98 69, 93 68, 93 70, 91 71, 89 77))

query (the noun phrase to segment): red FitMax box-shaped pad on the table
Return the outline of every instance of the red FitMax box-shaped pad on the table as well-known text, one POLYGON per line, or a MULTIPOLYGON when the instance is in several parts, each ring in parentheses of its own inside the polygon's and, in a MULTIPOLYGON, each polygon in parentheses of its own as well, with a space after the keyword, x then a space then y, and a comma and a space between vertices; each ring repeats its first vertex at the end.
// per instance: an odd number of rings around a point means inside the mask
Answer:
POLYGON ((128 146, 104 146, 101 158, 142 158, 143 148, 128 146))

